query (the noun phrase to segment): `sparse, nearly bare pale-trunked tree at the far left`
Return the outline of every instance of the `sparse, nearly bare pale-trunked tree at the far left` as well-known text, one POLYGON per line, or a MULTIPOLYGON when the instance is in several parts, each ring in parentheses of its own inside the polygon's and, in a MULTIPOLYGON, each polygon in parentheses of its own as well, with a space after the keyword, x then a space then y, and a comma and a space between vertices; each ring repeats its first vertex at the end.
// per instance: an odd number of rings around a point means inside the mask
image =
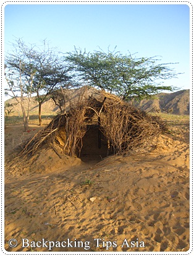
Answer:
POLYGON ((23 41, 18 40, 12 44, 14 50, 5 59, 5 77, 8 88, 5 88, 6 95, 15 98, 20 104, 23 114, 23 125, 28 130, 30 118, 30 104, 33 92, 33 79, 36 69, 33 66, 33 46, 28 48, 23 41), (9 94, 11 92, 11 95, 9 94), (19 93, 19 95, 18 95, 19 93), (27 101, 27 108, 25 108, 27 101))

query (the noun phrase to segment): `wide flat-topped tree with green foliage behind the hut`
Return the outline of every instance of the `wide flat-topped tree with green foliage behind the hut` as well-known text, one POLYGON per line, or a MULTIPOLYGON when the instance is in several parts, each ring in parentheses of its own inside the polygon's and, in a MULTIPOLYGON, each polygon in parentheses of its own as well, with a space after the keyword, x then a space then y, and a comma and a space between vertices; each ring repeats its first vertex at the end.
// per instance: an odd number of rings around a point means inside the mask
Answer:
POLYGON ((116 49, 108 53, 102 50, 86 53, 75 48, 67 53, 66 60, 80 81, 116 93, 124 100, 145 98, 162 90, 172 91, 174 88, 163 85, 163 80, 177 77, 167 66, 171 63, 156 64, 159 61, 156 57, 135 58, 132 54, 116 52, 116 49))

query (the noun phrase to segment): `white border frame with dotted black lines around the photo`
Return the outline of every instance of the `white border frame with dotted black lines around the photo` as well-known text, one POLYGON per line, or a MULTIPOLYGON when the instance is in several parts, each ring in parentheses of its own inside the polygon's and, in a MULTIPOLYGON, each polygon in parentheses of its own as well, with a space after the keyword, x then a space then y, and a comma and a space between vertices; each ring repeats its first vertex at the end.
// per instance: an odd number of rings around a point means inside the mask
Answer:
POLYGON ((4 255, 193 254, 193 7, 192 1, 1 1, 1 85, 4 84, 4 8, 7 4, 187 4, 190 7, 190 249, 187 252, 7 252, 4 249, 4 89, 1 86, 1 252, 4 255))

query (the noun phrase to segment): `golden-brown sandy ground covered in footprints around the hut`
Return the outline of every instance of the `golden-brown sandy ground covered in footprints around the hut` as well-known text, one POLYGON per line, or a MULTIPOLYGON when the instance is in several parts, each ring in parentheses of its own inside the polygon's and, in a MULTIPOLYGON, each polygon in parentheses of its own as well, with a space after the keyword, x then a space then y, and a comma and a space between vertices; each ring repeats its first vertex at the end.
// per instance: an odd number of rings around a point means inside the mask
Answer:
POLYGON ((189 250, 188 124, 174 127, 174 136, 161 135, 146 153, 99 163, 59 158, 52 150, 13 160, 15 146, 38 129, 5 129, 7 251, 189 250))

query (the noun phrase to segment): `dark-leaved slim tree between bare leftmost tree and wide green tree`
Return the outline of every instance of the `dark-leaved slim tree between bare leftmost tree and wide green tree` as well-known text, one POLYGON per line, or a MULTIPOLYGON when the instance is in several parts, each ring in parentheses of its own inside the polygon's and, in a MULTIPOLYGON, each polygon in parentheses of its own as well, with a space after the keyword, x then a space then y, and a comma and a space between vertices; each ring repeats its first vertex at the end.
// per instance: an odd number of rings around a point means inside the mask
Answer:
POLYGON ((49 48, 46 41, 43 41, 43 49, 36 52, 34 63, 36 74, 33 80, 33 92, 36 93, 38 101, 38 117, 41 126, 41 106, 51 97, 54 90, 59 88, 69 88, 72 77, 68 75, 67 64, 64 59, 59 56, 56 49, 49 48))

